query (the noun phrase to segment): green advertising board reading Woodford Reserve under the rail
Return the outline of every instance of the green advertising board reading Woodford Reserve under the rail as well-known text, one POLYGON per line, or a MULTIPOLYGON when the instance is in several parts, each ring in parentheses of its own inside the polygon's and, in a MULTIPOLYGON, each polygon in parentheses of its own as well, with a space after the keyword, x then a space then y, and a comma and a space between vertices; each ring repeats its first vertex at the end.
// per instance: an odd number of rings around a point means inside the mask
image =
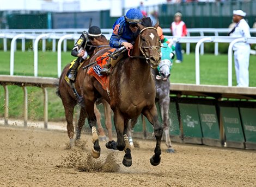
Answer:
POLYGON ((243 137, 242 124, 238 108, 221 107, 221 118, 226 140, 243 143, 245 138, 243 137))

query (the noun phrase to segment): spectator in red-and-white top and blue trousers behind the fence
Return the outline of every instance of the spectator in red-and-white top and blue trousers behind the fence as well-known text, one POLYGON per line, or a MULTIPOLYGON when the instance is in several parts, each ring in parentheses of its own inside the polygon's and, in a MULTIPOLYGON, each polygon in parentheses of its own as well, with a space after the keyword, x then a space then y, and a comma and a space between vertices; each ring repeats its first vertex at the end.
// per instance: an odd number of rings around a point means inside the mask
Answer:
MULTIPOLYGON (((172 32, 173 36, 182 37, 187 35, 187 28, 186 24, 181 21, 182 14, 180 12, 176 12, 174 15, 174 22, 170 25, 170 31, 172 32)), ((181 63, 183 60, 182 53, 181 53, 181 44, 176 43, 175 45, 175 52, 177 60, 176 63, 181 63)))

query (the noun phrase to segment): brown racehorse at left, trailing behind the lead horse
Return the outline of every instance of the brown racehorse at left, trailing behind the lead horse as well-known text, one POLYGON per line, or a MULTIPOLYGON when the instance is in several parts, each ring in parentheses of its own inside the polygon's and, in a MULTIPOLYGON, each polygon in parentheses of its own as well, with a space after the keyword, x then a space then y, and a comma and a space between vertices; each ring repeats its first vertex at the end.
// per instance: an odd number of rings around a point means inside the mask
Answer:
MULTIPOLYGON (((86 50, 89 56, 93 56, 100 49, 109 47, 108 41, 105 36, 102 36, 99 40, 101 42, 101 46, 92 46, 88 42, 86 50)), ((88 65, 89 61, 90 61, 90 58, 87 59, 83 63, 83 65, 88 65)), ((69 70, 69 66, 70 66, 70 63, 64 67, 62 74, 60 75, 59 85, 57 87, 56 94, 60 97, 60 99, 62 99, 62 104, 65 109, 65 118, 67 122, 66 127, 68 130, 68 136, 70 139, 70 146, 72 147, 74 146, 75 140, 80 140, 81 130, 84 125, 84 121, 87 117, 87 113, 86 113, 86 109, 84 108, 83 100, 81 101, 80 98, 78 99, 77 96, 74 95, 74 91, 72 91, 70 84, 65 80, 65 75, 69 70), (78 103, 81 104, 81 109, 80 109, 80 115, 78 118, 76 139, 74 140, 73 116, 74 116, 74 108, 78 103)), ((78 95, 83 95, 83 84, 86 83, 84 82, 84 78, 86 77, 86 75, 87 74, 84 72, 82 68, 78 69, 76 81, 75 81, 75 88, 78 95)), ((105 100, 102 100, 102 104, 104 105, 104 109, 105 109, 105 124, 108 131, 108 139, 112 140, 113 137, 112 137, 111 108, 105 100)), ((100 123, 100 112, 97 110, 96 106, 94 106, 94 109, 98 119, 97 124, 99 126, 98 130, 100 132, 100 137, 104 140, 105 133, 100 123)))

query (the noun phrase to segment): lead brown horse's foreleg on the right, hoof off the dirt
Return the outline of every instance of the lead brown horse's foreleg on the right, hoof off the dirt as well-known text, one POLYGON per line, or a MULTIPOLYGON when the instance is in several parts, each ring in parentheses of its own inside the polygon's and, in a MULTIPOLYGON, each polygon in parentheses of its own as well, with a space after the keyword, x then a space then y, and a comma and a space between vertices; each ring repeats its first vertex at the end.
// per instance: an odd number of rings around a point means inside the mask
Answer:
POLYGON ((163 127, 159 124, 159 120, 157 118, 157 109, 156 105, 149 109, 144 109, 142 111, 143 115, 148 118, 149 122, 154 126, 154 133, 156 137, 156 147, 155 154, 150 158, 151 165, 159 165, 161 162, 161 138, 163 135, 163 127))

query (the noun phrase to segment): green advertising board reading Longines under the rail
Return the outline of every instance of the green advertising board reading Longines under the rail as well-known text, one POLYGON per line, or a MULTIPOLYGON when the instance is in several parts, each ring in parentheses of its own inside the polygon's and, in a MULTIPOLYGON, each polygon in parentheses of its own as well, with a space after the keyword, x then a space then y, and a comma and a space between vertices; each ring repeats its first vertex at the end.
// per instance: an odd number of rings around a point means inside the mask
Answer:
POLYGON ((220 128, 213 105, 198 105, 198 112, 204 138, 220 139, 220 128))

